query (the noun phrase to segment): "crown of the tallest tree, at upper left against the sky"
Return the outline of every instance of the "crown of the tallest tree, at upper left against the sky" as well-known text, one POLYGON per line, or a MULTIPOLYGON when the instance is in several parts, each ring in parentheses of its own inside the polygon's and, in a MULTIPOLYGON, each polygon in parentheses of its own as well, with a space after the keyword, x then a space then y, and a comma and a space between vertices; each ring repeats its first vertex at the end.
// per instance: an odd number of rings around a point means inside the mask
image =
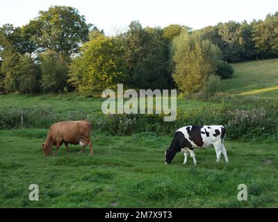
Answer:
POLYGON ((40 51, 50 49, 68 58, 79 51, 80 44, 88 40, 91 24, 79 15, 76 8, 53 6, 40 11, 38 18, 24 26, 24 35, 30 38, 40 51))

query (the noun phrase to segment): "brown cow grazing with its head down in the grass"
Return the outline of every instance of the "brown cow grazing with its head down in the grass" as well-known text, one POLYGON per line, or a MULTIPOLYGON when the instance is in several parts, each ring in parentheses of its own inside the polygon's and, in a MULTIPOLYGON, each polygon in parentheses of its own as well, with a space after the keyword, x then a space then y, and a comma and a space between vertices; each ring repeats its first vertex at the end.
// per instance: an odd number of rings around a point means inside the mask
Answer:
POLYGON ((47 139, 42 144, 42 150, 44 156, 47 156, 52 151, 52 146, 56 146, 57 155, 58 148, 65 143, 67 147, 67 154, 70 153, 68 144, 80 144, 82 146, 81 154, 85 146, 90 145, 90 155, 92 155, 92 142, 90 141, 90 134, 92 132, 92 124, 88 120, 81 121, 64 121, 60 123, 54 123, 47 135, 47 139))

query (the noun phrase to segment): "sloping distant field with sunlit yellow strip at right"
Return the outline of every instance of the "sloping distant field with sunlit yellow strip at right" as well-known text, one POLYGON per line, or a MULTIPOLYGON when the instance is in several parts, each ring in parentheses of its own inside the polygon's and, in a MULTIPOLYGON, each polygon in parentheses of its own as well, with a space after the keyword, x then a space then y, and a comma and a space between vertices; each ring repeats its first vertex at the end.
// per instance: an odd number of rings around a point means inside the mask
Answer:
POLYGON ((224 92, 278 99, 278 59, 233 65, 234 78, 223 80, 224 92))

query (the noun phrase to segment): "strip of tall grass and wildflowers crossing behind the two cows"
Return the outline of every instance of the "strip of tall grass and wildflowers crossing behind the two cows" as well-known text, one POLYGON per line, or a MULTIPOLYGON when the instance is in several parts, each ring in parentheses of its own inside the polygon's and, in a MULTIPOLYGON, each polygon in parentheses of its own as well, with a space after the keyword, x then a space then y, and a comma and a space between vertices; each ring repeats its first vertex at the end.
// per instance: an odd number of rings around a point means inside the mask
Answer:
POLYGON ((0 129, 49 128, 58 121, 90 119, 95 130, 108 135, 155 132, 172 135, 186 125, 223 125, 231 139, 261 139, 278 135, 278 104, 254 98, 229 99, 220 108, 178 110, 177 120, 164 122, 164 114, 111 114, 82 110, 56 113, 49 106, 0 110, 0 129), (23 122, 22 122, 23 113, 23 122))

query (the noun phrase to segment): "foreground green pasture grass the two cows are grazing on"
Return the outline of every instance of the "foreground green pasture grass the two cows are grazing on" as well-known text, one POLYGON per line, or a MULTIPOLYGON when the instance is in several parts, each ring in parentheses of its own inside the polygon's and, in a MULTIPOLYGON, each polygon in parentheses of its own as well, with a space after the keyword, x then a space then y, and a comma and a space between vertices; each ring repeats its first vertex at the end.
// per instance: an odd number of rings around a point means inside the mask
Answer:
POLYGON ((164 164, 172 137, 140 133, 132 137, 98 135, 94 155, 64 146, 44 157, 47 129, 0 131, 0 207, 278 207, 277 144, 226 142, 229 164, 215 162, 215 151, 196 151, 164 164), (236 199, 239 184, 249 187, 246 202, 236 199), (40 200, 28 200, 37 184, 40 200))

